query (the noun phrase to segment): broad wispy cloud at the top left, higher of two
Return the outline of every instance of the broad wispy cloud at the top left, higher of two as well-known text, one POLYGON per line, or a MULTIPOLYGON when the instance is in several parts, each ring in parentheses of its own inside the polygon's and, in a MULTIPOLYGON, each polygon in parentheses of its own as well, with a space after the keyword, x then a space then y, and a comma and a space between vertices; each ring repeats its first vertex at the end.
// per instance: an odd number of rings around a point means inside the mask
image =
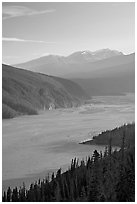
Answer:
POLYGON ((19 17, 19 16, 32 16, 32 15, 40 15, 40 14, 52 13, 52 12, 55 12, 55 9, 37 11, 25 6, 3 6, 2 17, 3 17, 3 20, 5 20, 5 19, 19 17))

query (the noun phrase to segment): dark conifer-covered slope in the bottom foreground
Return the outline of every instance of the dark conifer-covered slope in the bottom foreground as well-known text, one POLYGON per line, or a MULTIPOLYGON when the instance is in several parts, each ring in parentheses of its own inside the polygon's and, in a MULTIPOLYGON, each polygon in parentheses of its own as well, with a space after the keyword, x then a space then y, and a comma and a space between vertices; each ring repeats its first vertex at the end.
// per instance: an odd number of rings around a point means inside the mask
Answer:
MULTIPOLYGON (((119 131, 122 138, 119 152, 111 151, 111 142, 104 152, 96 150, 86 161, 72 160, 68 171, 61 169, 51 178, 15 187, 3 193, 3 201, 8 202, 134 202, 135 201, 135 145, 134 125, 128 132, 125 126, 119 131), (125 134, 126 133, 126 134, 125 134), (131 145, 125 143, 126 137, 133 137, 131 145)), ((90 155, 90 152, 89 152, 90 155)))

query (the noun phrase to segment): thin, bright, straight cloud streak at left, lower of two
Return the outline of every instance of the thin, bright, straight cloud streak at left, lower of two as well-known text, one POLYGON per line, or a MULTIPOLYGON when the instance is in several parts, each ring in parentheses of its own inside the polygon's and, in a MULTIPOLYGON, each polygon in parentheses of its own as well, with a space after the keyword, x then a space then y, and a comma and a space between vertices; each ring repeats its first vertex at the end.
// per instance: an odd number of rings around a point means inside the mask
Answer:
POLYGON ((20 38, 7 38, 3 37, 2 41, 5 42, 29 42, 29 43, 46 43, 46 44, 55 44, 56 42, 48 42, 48 41, 41 41, 41 40, 25 40, 20 38))

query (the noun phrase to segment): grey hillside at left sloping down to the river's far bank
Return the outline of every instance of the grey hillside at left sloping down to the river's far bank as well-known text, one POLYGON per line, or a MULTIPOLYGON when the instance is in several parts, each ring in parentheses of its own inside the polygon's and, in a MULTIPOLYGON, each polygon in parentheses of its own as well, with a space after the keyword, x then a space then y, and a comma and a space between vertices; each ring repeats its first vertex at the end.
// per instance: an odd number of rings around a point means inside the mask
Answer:
POLYGON ((3 118, 37 114, 39 109, 80 105, 88 95, 76 83, 2 65, 3 118))

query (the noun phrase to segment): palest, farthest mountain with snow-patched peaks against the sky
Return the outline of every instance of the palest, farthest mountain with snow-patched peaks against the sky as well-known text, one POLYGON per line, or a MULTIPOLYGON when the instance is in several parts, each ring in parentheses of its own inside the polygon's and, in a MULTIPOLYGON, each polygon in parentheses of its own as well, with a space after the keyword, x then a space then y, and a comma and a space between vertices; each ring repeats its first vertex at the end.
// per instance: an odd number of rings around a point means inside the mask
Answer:
POLYGON ((77 71, 82 72, 86 68, 89 69, 90 63, 115 56, 123 56, 123 53, 110 49, 95 52, 85 50, 74 52, 67 57, 48 55, 15 66, 54 76, 63 76, 77 71))

